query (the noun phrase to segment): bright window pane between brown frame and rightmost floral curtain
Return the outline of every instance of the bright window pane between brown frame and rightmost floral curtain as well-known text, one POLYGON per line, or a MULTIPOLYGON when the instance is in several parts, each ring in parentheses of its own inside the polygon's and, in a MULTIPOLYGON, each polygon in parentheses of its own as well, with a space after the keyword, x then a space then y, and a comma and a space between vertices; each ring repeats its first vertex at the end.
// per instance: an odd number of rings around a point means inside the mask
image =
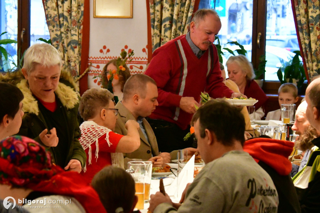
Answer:
POLYGON ((278 81, 277 71, 300 50, 290 0, 268 0, 265 80, 278 81))

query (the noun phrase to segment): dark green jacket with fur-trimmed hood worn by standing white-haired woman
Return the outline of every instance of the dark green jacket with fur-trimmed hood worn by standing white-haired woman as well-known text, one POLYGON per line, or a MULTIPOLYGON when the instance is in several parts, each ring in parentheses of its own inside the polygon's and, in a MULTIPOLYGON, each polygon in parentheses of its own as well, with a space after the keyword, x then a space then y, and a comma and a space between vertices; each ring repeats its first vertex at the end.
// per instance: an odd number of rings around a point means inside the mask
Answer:
MULTIPOLYGON (((24 95, 23 112, 25 113, 22 118, 22 124, 20 127, 19 135, 27 136, 33 138, 41 145, 45 146, 39 138, 39 134, 44 130, 48 129, 44 117, 39 111, 38 102, 32 95, 28 81, 24 79, 21 72, 16 72, 15 74, 9 74, 6 76, 0 76, 0 81, 5 81, 9 83, 16 84, 16 86, 22 91, 24 95), (20 80, 20 81, 19 81, 20 80)), ((73 81, 71 75, 66 71, 61 71, 60 81, 58 88, 55 91, 56 96, 61 101, 64 106, 65 114, 67 115, 66 120, 68 121, 68 126, 73 131, 68 132, 69 141, 69 152, 65 166, 71 159, 76 159, 81 162, 81 166, 84 167, 86 162, 86 154, 78 138, 80 138, 80 129, 78 121, 78 108, 79 108, 79 94, 76 92, 76 84, 73 81)), ((62 116, 62 115, 61 115, 62 116)), ((60 157, 59 153, 55 153, 54 149, 45 146, 51 153, 54 162, 60 157)))

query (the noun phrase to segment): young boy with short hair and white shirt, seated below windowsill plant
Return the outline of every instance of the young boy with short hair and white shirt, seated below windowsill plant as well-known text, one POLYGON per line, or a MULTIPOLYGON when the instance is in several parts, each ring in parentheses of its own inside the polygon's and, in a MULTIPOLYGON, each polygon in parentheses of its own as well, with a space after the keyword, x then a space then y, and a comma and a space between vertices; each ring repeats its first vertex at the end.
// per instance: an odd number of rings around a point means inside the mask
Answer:
MULTIPOLYGON (((279 87, 278 90, 279 95, 279 106, 281 104, 295 104, 297 103, 298 97, 298 88, 293 83, 284 83, 279 87)), ((268 112, 266 120, 281 120, 281 112, 280 109, 275 111, 268 112)))

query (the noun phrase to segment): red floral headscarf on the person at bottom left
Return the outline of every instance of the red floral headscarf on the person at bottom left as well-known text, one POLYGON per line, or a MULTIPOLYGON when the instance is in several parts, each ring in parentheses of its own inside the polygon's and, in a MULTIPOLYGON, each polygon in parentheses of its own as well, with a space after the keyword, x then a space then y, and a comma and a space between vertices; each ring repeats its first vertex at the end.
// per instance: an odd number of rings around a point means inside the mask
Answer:
POLYGON ((52 167, 50 153, 30 138, 13 136, 0 142, 1 184, 30 188, 61 170, 52 167))

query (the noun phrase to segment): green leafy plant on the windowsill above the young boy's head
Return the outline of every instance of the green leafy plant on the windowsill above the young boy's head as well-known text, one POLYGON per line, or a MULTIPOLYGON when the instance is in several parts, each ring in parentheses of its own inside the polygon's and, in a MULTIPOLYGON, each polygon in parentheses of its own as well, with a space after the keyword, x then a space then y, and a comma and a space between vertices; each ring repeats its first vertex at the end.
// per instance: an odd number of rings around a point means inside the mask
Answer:
POLYGON ((294 51, 295 56, 292 61, 286 65, 282 65, 277 72, 279 81, 283 83, 294 83, 298 89, 301 88, 303 82, 307 79, 304 71, 303 63, 300 61, 300 51, 294 51), (282 74, 284 73, 284 74, 282 74))

